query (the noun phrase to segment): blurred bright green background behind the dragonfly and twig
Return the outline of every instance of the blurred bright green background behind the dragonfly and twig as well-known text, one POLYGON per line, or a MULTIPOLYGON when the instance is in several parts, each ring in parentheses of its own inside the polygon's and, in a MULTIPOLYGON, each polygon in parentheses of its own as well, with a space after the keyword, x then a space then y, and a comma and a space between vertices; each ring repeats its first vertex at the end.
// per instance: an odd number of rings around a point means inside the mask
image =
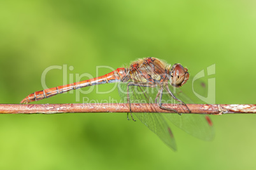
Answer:
MULTIPOLYGON (((244 0, 1 1, 0 103, 41 90, 41 74, 52 65, 95 76, 96 66, 118 68, 146 56, 182 63, 191 74, 215 63, 216 102, 255 103, 255 7, 244 0)), ((49 88, 62 82, 62 70, 46 75, 49 88)), ((116 90, 86 96, 119 98, 116 90)), ((211 118, 215 140, 173 127, 173 152, 126 114, 0 115, 0 169, 255 169, 255 115, 211 118)))

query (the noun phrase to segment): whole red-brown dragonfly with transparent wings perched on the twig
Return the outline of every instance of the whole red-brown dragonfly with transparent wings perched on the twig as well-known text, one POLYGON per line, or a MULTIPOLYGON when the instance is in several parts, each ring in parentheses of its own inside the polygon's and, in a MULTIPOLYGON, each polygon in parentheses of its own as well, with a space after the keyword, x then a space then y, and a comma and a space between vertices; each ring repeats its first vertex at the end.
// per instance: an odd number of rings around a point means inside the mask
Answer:
MULTIPOLYGON (((176 150, 176 142, 169 122, 202 140, 212 140, 214 136, 213 123, 208 115, 181 115, 176 110, 163 105, 163 103, 168 102, 180 103, 185 107, 184 112, 190 112, 186 103, 191 102, 191 100, 181 91, 176 91, 176 89, 186 84, 189 77, 188 69, 180 63, 171 66, 158 58, 148 57, 138 59, 132 62, 129 67, 118 68, 100 77, 36 91, 20 103, 42 100, 73 89, 118 82, 119 95, 122 101, 129 106, 132 120, 136 121, 132 114, 136 115, 168 147, 176 150), (173 113, 132 113, 131 103, 142 102, 148 103, 152 109, 159 107, 173 113), (157 106, 155 103, 157 103, 157 106)), ((128 114, 127 119, 129 119, 128 114)))

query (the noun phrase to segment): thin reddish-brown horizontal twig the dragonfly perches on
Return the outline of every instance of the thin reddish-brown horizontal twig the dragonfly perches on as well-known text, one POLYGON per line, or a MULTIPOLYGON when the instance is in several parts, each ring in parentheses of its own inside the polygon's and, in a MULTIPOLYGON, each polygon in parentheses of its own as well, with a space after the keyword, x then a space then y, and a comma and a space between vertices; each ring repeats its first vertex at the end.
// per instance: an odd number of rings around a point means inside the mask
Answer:
MULTIPOLYGON (((157 104, 132 103, 132 112, 162 112, 171 113, 168 110, 162 110, 157 104)), ((177 110, 183 114, 254 114, 256 105, 201 105, 187 104, 187 108, 181 104, 163 104, 164 107, 177 110)), ((91 104, 0 104, 0 114, 60 114, 60 113, 96 113, 96 112, 130 112, 125 103, 91 103, 91 104)))

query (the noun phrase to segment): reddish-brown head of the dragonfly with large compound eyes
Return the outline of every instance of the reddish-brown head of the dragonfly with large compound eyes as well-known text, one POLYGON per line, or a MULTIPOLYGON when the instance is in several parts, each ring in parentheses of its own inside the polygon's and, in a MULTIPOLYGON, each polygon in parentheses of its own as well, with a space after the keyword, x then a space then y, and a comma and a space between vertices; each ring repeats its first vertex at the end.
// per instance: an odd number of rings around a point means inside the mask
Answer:
POLYGON ((170 74, 171 85, 175 88, 180 88, 189 78, 188 69, 182 67, 179 63, 173 65, 170 74))

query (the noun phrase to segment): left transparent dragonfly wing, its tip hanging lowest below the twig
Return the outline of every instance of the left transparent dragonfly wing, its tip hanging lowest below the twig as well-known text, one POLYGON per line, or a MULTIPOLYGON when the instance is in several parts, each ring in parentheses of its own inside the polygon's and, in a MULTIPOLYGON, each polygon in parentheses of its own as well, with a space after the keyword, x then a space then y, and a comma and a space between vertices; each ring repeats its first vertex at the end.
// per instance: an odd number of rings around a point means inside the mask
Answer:
MULTIPOLYGON (((125 102, 127 102, 127 83, 118 84, 119 95, 125 102)), ((154 100, 154 94, 157 93, 158 88, 148 88, 141 86, 129 86, 129 98, 131 103, 149 103, 149 107, 154 100), (152 92, 152 93, 150 93, 152 92)), ((166 143, 168 147, 176 150, 176 143, 173 133, 163 115, 160 113, 134 113, 138 119, 145 124, 153 133, 157 134, 159 138, 166 143)))

